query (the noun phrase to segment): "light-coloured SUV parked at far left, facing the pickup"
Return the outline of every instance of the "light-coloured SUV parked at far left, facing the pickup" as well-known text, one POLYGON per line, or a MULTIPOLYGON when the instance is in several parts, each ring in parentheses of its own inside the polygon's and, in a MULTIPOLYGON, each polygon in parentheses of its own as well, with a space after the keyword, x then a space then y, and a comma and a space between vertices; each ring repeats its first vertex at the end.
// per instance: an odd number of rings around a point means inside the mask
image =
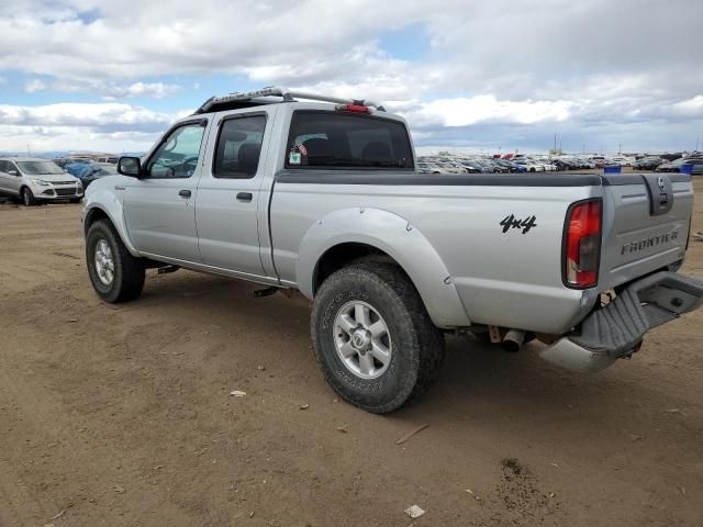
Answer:
POLYGON ((78 203, 83 188, 78 178, 49 159, 5 157, 0 158, 0 194, 19 198, 26 206, 66 200, 78 203))

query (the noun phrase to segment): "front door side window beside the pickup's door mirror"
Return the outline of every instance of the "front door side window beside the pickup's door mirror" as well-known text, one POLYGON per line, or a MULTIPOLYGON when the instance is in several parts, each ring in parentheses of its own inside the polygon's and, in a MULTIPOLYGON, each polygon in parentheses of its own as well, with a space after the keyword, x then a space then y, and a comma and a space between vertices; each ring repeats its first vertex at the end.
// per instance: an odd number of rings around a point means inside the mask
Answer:
POLYGON ((204 131, 201 123, 185 124, 174 130, 149 158, 146 177, 190 178, 198 167, 204 131))

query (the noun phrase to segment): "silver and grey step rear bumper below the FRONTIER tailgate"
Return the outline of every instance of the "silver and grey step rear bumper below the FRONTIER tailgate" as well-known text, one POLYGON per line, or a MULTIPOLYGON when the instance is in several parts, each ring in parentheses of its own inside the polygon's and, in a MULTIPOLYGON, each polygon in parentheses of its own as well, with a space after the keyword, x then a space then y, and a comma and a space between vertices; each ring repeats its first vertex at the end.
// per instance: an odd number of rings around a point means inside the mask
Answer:
POLYGON ((561 337, 539 356, 572 371, 600 371, 631 356, 649 329, 702 304, 702 281, 657 272, 629 284, 605 307, 587 316, 579 334, 561 337))

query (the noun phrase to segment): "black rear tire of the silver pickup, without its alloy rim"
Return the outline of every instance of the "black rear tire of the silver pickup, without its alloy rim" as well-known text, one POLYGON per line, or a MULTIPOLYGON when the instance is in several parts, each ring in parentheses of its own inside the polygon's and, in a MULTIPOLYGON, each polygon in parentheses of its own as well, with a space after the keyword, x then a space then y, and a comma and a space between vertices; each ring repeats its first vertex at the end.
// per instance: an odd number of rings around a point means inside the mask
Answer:
POLYGON ((355 264, 330 276, 315 295, 311 333, 327 382, 353 405, 376 414, 392 412, 424 393, 444 359, 444 335, 410 279, 391 264, 355 264), (355 374, 337 352, 335 319, 352 301, 367 303, 388 326, 391 358, 375 379, 355 374))

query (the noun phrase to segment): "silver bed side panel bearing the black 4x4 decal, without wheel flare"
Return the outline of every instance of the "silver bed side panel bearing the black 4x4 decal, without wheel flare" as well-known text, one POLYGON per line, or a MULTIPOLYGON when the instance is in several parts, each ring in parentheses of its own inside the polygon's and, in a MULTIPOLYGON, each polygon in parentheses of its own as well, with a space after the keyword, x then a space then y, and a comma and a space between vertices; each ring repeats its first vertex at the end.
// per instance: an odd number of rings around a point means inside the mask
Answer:
MULTIPOLYGON (((325 184, 325 173, 319 177, 317 184, 275 187, 274 260, 284 281, 310 281, 301 273, 312 274, 313 269, 297 266, 299 258, 310 258, 299 254, 301 240, 334 211, 356 206, 392 212, 417 229, 448 271, 472 323, 562 333, 595 302, 595 292, 562 285, 561 236, 569 204, 600 195, 600 187, 325 184), (524 234, 512 227, 503 232, 501 222, 511 214, 516 220, 534 215, 536 225, 524 234)), ((332 236, 353 239, 355 228, 350 221, 337 225, 332 236)), ((393 239, 386 243, 394 246, 393 239)), ((412 248, 398 254, 421 258, 412 248)), ((435 269, 427 266, 425 272, 435 269)), ((445 278, 429 280, 443 283, 445 278)), ((432 316, 431 306, 428 311, 432 316)))

